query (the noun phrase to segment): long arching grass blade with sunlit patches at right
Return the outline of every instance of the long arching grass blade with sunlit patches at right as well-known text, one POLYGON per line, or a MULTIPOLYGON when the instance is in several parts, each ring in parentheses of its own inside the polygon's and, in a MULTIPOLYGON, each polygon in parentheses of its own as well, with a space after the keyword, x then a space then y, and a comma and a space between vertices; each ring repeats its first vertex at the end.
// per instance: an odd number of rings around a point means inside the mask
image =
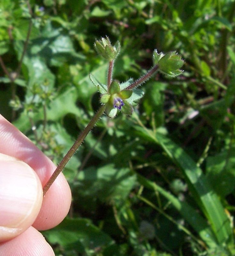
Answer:
POLYGON ((181 168, 186 180, 188 180, 189 189, 200 209, 208 218, 218 243, 233 243, 230 220, 215 191, 192 158, 168 137, 160 133, 153 134, 152 131, 139 126, 135 126, 135 129, 140 131, 140 134, 145 134, 149 140, 160 145, 168 157, 181 168))

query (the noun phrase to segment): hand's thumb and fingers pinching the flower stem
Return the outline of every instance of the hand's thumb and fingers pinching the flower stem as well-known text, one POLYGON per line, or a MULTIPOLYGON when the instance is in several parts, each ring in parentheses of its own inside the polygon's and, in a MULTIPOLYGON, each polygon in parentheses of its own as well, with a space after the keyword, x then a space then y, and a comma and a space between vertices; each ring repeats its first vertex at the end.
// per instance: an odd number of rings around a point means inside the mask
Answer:
POLYGON ((67 215, 71 191, 62 173, 43 197, 56 166, 24 134, 0 115, 0 255, 52 256, 38 230, 67 215))

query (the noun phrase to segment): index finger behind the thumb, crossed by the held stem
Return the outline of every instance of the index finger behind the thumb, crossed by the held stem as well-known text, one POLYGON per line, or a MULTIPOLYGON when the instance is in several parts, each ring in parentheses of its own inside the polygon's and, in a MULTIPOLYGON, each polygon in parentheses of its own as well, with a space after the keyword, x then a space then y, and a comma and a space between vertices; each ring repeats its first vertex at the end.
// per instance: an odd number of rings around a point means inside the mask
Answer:
MULTIPOLYGON (((14 156, 37 173, 45 185, 56 166, 24 134, 0 115, 0 153, 14 156)), ((71 203, 71 191, 61 173, 43 198, 41 211, 34 227, 45 230, 58 225, 67 215, 71 203)))

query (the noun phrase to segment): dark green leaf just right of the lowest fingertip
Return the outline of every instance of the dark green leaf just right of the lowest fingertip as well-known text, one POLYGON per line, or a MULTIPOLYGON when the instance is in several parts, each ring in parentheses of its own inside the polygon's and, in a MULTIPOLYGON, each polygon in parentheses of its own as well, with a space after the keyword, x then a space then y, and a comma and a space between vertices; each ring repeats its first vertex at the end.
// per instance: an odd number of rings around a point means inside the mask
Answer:
POLYGON ((82 218, 66 218, 57 227, 44 231, 43 235, 51 244, 60 244, 64 250, 73 249, 80 253, 114 243, 90 220, 82 218))

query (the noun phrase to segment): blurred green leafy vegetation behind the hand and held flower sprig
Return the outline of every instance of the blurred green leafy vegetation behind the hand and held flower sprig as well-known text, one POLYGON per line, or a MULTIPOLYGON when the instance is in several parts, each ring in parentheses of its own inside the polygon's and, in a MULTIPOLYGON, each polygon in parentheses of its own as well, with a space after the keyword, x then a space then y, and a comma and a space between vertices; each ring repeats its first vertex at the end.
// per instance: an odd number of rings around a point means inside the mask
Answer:
POLYGON ((234 12, 231 0, 4 0, 0 112, 59 163, 106 82, 95 39, 121 43, 114 78, 137 78, 152 52, 182 54, 135 113, 103 116, 64 174, 73 202, 43 235, 56 255, 235 255, 234 12))

